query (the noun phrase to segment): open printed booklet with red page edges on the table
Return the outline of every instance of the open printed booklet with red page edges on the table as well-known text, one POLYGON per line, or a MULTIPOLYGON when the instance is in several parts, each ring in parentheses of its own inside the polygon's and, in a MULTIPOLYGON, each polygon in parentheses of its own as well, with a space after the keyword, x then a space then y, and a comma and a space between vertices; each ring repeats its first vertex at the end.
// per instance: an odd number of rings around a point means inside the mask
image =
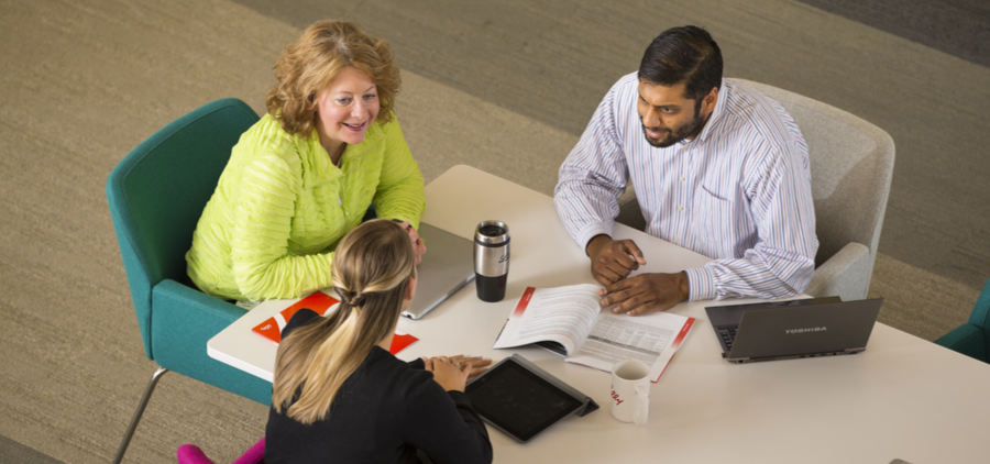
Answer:
POLYGON ((598 306, 598 289, 590 284, 532 288, 522 292, 494 349, 539 344, 566 356, 564 361, 612 372, 615 363, 639 360, 657 382, 694 318, 671 312, 629 317, 598 306))

